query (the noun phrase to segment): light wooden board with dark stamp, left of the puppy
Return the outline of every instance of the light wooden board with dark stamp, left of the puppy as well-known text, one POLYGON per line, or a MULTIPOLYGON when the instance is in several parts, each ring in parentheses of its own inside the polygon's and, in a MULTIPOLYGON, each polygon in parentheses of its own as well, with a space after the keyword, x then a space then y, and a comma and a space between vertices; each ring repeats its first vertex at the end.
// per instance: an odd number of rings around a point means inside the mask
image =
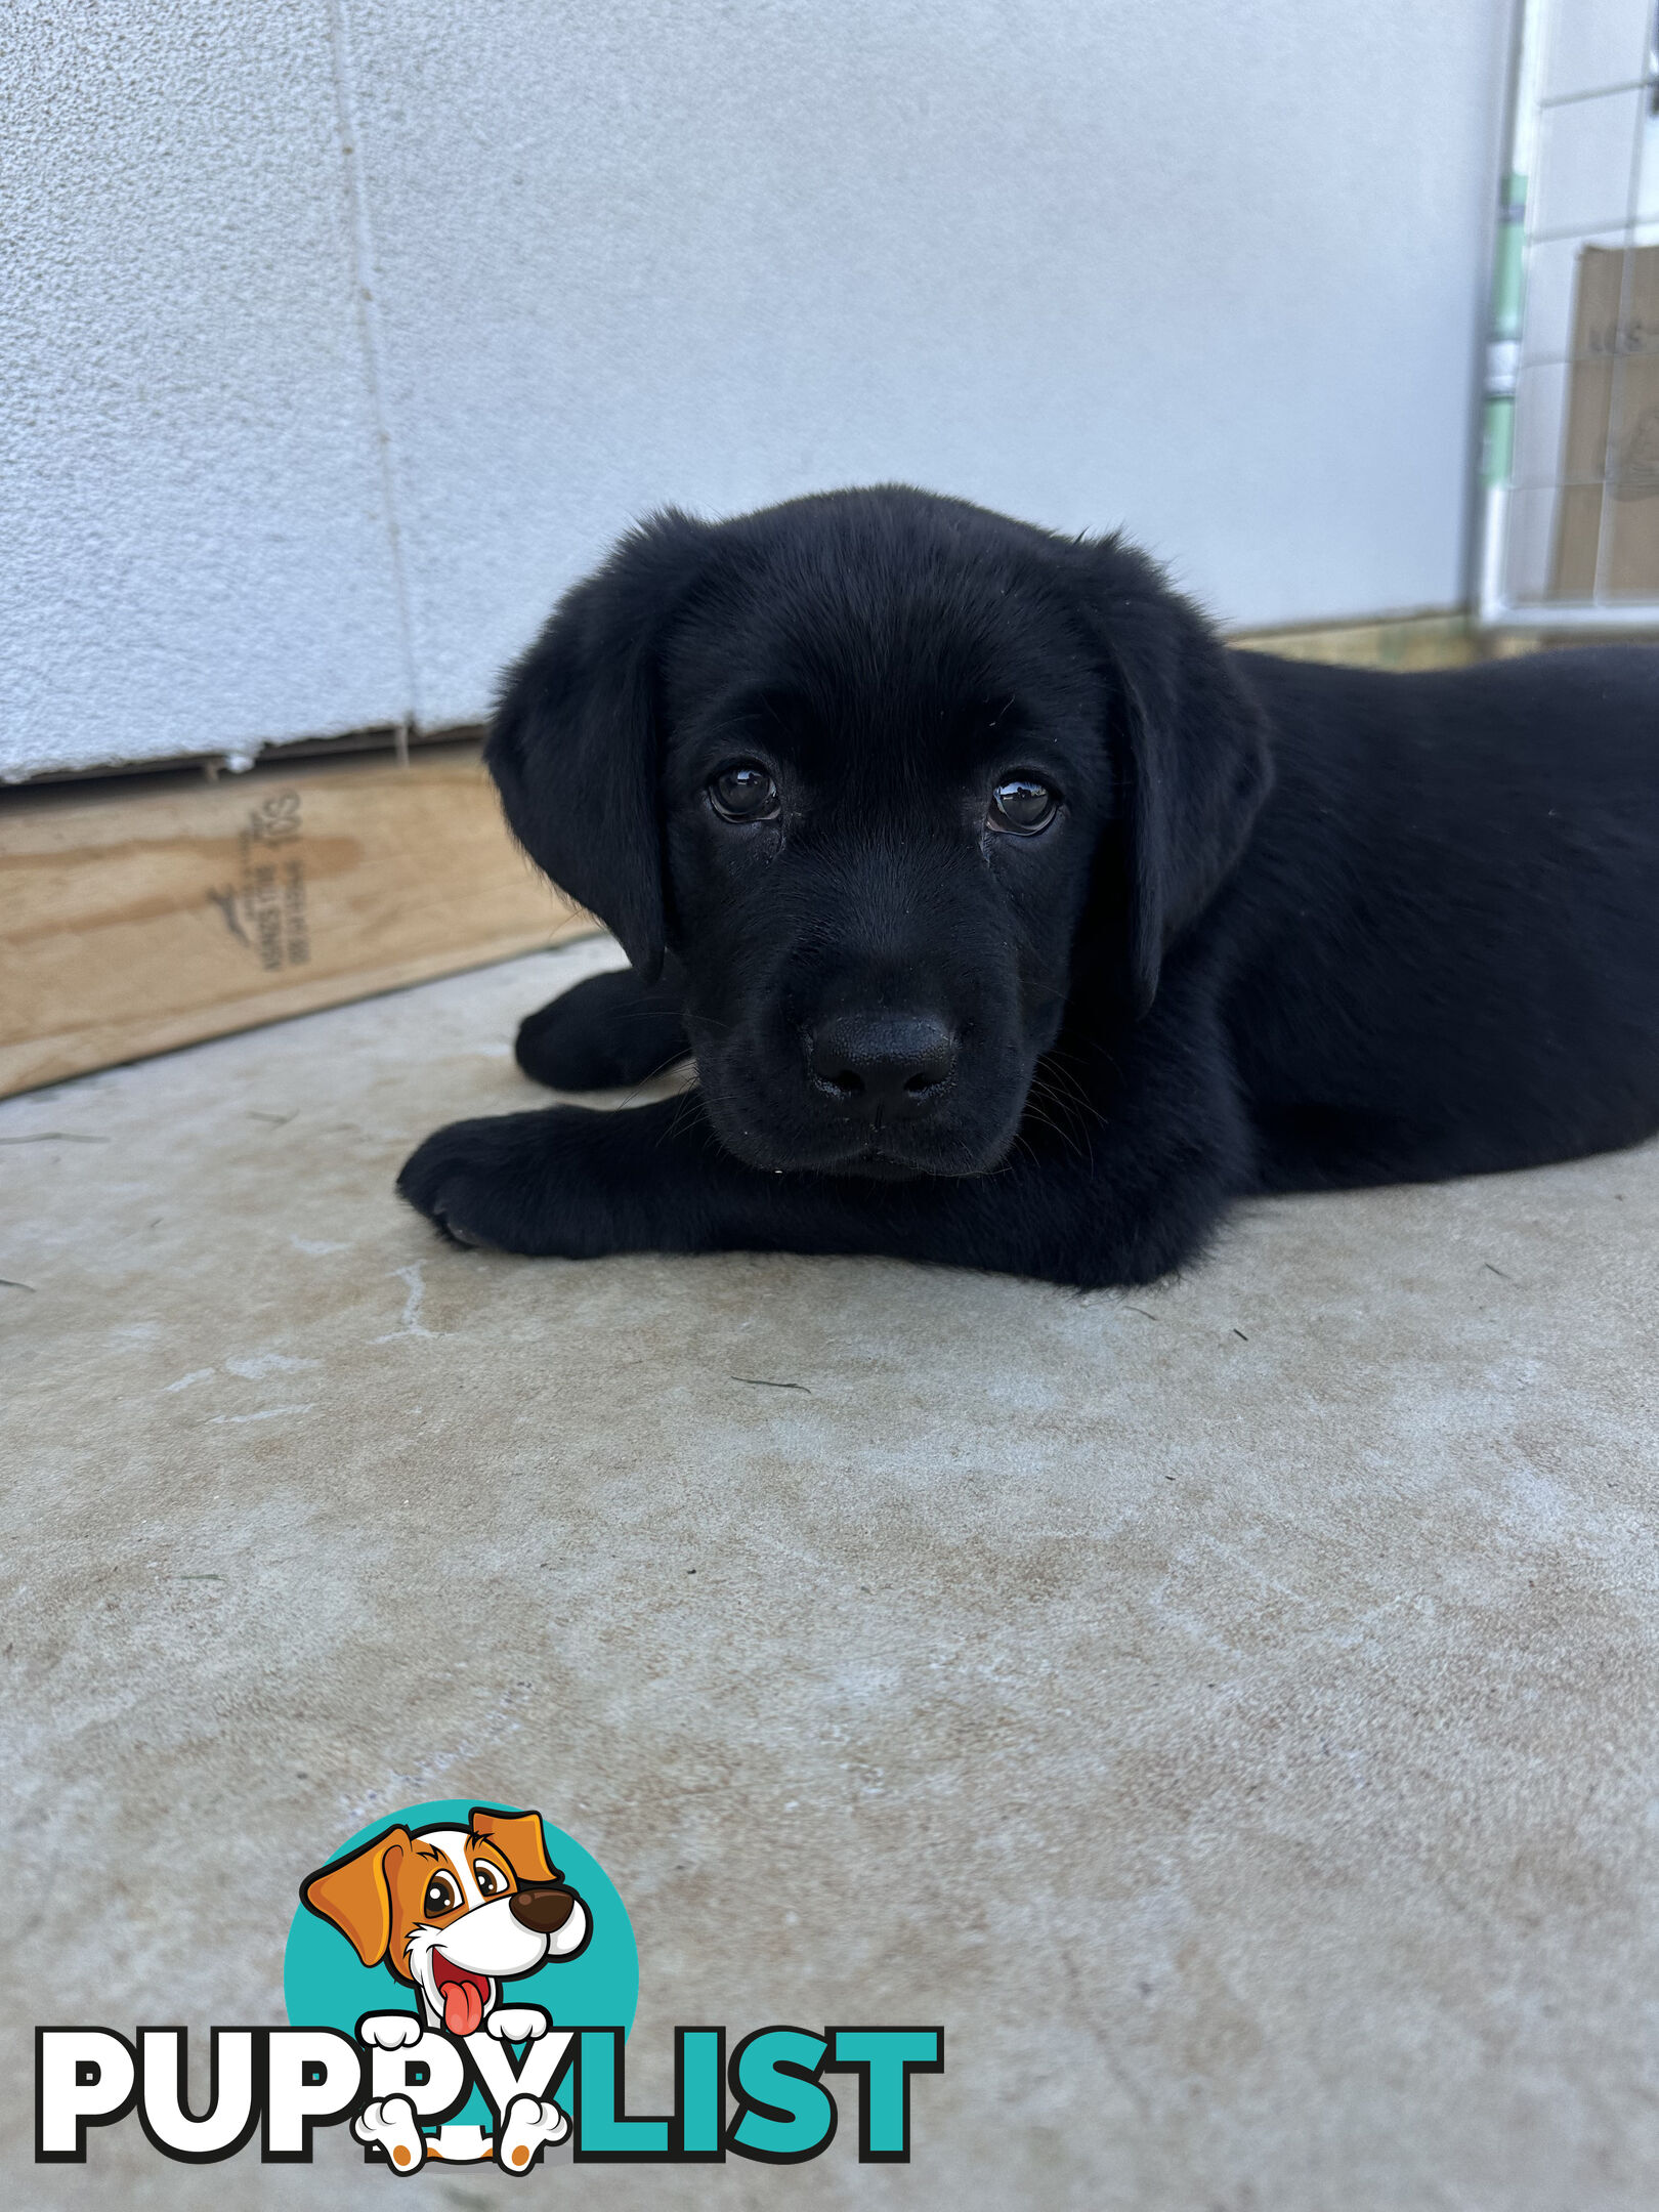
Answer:
POLYGON ((0 1097, 597 925, 478 745, 0 799, 0 1097))

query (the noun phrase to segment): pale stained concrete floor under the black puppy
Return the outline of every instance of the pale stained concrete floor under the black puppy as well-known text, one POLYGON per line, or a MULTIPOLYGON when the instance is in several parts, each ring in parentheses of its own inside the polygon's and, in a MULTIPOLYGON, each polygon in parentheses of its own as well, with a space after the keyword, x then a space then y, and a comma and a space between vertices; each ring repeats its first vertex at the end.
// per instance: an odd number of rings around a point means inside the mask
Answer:
POLYGON ((301 1874, 476 1794, 628 1900, 637 2108, 675 2022, 949 2037, 909 2168, 531 2192, 1650 2212, 1659 1148, 1126 1298, 434 1243, 398 1161, 613 958, 0 1106, 11 2201, 400 2185, 35 2170, 27 2031, 281 2020, 301 1874))

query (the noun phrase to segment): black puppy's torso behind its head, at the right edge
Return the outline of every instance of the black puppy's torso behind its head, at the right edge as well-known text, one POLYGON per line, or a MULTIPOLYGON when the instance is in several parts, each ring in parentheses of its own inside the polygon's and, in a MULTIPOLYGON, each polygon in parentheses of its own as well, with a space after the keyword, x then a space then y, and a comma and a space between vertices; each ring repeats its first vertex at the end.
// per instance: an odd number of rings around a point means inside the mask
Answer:
POLYGON ((1239 655, 1274 792, 1214 938, 1256 1179, 1431 1181, 1659 1126, 1659 653, 1239 655))

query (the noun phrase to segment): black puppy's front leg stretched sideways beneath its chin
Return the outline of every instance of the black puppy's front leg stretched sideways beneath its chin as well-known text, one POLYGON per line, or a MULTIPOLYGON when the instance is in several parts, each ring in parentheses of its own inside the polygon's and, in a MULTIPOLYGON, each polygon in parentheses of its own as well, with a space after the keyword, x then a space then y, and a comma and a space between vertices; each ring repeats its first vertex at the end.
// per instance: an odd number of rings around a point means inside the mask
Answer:
POLYGON ((867 1252, 1102 1287, 1179 1265, 1239 1188, 1225 1124, 1181 1113, 1139 1139, 1104 1121, 1088 1144, 1033 1137, 989 1175, 763 1175, 688 1093, 456 1121, 398 1190, 456 1243, 507 1252, 867 1252))

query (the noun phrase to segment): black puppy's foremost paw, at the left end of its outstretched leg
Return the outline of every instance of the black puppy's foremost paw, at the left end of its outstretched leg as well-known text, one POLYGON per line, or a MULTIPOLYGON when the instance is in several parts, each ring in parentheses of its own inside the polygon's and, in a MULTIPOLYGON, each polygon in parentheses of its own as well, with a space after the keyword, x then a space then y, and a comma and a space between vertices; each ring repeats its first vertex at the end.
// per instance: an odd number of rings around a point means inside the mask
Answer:
POLYGON ((458 1245, 597 1259, 615 1252, 606 1130, 584 1106, 451 1121, 405 1161, 398 1194, 458 1245))

